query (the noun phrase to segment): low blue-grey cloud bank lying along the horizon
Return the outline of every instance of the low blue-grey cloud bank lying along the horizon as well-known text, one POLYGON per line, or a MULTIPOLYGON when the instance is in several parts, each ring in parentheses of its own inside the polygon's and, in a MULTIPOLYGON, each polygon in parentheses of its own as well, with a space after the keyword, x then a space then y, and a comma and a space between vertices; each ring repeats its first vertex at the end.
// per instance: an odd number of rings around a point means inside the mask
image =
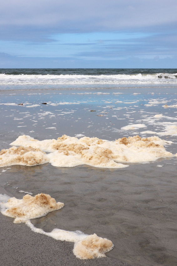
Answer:
POLYGON ((176 68, 177 57, 165 57, 160 59, 155 56, 152 59, 141 59, 129 56, 123 59, 102 58, 82 59, 80 57, 18 57, 0 53, 0 73, 8 73, 8 68, 156 68, 159 72, 162 68, 176 68))

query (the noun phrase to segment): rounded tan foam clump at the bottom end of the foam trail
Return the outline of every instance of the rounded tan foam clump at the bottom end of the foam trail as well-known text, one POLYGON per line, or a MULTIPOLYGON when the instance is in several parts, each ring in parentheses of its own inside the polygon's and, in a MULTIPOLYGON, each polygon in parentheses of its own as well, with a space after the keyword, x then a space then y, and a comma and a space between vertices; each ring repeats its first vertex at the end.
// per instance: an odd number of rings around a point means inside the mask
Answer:
POLYGON ((105 257, 105 253, 109 252, 113 247, 112 241, 93 234, 75 243, 73 253, 77 258, 81 259, 100 258, 105 257))

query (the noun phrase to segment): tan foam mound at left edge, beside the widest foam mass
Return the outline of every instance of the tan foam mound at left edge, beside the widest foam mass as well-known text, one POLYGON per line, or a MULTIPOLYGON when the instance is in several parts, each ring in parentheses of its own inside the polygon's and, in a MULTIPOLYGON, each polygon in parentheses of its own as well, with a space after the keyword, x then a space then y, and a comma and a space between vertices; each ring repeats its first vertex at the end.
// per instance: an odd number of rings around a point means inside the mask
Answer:
POLYGON ((11 165, 34 166, 47 163, 46 153, 31 146, 11 147, 0 151, 0 167, 11 165))

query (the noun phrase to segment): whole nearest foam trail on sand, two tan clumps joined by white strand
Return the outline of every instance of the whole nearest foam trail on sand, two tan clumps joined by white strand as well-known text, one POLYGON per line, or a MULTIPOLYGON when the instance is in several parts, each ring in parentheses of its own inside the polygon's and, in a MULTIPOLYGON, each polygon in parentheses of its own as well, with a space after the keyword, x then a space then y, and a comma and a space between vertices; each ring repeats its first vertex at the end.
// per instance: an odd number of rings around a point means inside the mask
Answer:
POLYGON ((52 237, 56 240, 74 242, 73 253, 80 259, 105 257, 113 247, 112 241, 100 238, 96 234, 86 235, 80 231, 71 232, 55 228, 46 233, 43 229, 36 228, 30 219, 45 216, 48 212, 63 208, 64 203, 56 202, 48 194, 38 194, 34 197, 25 195, 19 200, 0 194, 0 208, 3 215, 15 218, 14 223, 26 223, 35 233, 52 237))

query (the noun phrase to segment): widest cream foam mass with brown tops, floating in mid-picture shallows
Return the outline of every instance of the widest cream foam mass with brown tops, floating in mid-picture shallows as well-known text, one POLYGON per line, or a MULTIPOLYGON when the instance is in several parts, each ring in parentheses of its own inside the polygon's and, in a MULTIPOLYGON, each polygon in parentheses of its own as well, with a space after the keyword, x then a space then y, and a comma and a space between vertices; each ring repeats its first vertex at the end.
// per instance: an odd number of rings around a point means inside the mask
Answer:
POLYGON ((133 136, 120 138, 115 141, 98 138, 70 137, 63 135, 57 140, 34 140, 30 136, 19 136, 11 145, 23 145, 40 148, 50 152, 49 162, 57 167, 74 167, 82 164, 103 167, 123 168, 123 163, 139 163, 155 161, 161 157, 173 157, 165 150, 167 143, 157 136, 141 138, 133 136))

